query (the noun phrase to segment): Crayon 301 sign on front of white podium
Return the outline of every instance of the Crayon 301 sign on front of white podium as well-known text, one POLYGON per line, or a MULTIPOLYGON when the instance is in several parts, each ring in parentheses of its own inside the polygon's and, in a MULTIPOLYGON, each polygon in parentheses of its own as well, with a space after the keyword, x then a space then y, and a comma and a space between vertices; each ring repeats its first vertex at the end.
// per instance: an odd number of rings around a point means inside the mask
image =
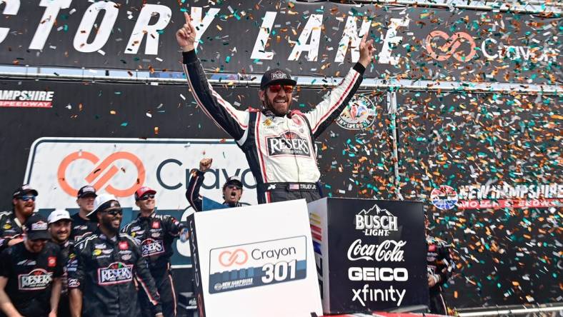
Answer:
POLYGON ((283 238, 211 249, 209 293, 307 277, 307 238, 283 238))

